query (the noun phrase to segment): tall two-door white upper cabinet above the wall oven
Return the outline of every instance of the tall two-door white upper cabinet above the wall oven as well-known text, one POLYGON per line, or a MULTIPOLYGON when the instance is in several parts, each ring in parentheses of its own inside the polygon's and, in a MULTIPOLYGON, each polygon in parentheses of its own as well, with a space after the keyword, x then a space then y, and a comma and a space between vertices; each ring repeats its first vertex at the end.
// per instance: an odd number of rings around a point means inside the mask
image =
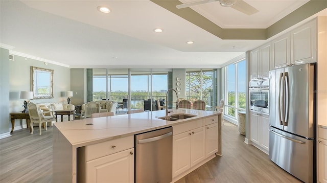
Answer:
POLYGON ((250 80, 269 78, 271 67, 271 42, 250 52, 251 56, 251 75, 250 80))

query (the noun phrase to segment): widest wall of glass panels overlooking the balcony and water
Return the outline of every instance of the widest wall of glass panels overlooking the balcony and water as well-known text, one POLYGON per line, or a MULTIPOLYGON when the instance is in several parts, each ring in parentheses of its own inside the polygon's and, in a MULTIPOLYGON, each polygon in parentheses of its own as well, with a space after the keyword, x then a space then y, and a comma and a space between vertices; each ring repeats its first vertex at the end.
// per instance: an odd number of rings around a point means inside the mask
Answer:
MULTIPOLYGON (((107 99, 123 102, 124 99, 128 100, 130 109, 151 110, 145 108, 144 101, 162 101, 166 98, 169 71, 95 68, 93 73, 94 101, 107 99)), ((155 110, 155 103, 152 103, 152 110, 155 110)))

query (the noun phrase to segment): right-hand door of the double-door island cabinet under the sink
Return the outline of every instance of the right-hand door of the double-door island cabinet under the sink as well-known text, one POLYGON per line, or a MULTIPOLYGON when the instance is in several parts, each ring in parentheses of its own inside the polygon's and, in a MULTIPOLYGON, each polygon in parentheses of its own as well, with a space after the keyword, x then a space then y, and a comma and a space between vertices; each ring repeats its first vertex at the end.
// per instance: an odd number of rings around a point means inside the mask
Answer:
POLYGON ((205 158, 204 127, 191 130, 191 167, 205 158))

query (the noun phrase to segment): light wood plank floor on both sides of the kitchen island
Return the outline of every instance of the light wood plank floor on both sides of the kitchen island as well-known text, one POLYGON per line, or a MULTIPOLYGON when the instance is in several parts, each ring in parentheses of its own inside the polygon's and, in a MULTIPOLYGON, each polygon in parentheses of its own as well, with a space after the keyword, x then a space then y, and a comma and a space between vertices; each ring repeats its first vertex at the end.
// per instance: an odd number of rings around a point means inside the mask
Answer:
MULTIPOLYGON (((36 129, 37 131, 38 129, 36 129)), ((217 156, 178 180, 182 182, 301 182, 246 145, 238 127, 225 121, 223 156, 217 156)), ((52 182, 52 128, 42 135, 28 129, 0 140, 0 182, 52 182)))

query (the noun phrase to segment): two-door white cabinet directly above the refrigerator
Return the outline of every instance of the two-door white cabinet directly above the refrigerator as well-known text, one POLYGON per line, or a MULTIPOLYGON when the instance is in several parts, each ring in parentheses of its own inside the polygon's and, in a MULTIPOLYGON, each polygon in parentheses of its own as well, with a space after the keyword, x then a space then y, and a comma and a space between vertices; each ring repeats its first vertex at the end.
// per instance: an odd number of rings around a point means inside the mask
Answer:
POLYGON ((316 19, 274 39, 272 53, 272 68, 316 62, 316 19))

